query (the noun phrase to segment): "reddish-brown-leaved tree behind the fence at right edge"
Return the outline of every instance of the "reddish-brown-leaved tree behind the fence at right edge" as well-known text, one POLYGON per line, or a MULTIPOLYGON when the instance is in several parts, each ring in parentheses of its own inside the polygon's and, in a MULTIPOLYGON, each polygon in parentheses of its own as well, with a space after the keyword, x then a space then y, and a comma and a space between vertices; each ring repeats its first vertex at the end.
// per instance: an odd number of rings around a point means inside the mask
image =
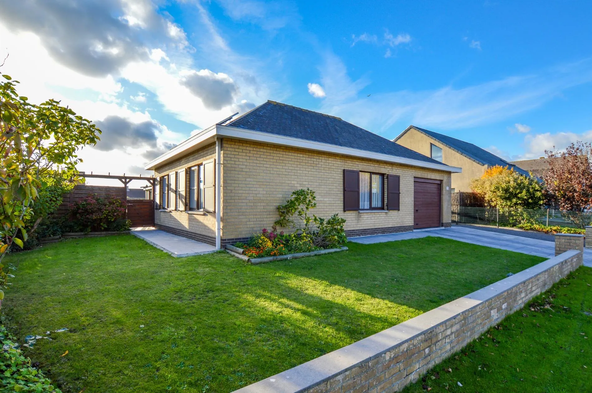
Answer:
POLYGON ((543 174, 549 204, 561 210, 592 209, 592 142, 577 141, 565 151, 545 150, 549 168, 543 174))

